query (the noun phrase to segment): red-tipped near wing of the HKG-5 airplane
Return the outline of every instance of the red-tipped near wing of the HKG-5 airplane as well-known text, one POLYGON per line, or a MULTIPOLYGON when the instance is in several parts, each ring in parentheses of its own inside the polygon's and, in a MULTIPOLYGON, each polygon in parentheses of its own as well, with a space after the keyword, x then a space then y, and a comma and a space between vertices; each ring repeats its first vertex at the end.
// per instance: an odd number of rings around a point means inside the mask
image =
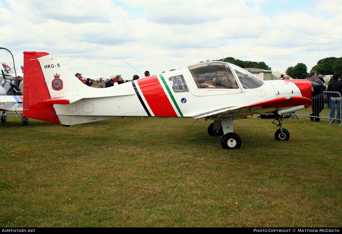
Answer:
POLYGON ((253 114, 272 113, 274 111, 280 111, 281 109, 293 106, 311 105, 311 103, 311 99, 305 97, 282 97, 248 105, 229 106, 215 109, 213 111, 195 115, 193 118, 234 118, 253 114))

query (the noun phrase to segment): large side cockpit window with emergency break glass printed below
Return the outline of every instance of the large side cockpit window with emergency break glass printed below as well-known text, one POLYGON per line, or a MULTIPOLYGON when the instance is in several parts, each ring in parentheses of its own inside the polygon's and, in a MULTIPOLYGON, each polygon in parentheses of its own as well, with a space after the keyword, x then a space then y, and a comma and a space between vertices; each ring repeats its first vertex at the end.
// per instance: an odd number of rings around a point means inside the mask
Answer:
POLYGON ((232 70, 224 62, 206 62, 189 66, 200 89, 238 89, 232 70))

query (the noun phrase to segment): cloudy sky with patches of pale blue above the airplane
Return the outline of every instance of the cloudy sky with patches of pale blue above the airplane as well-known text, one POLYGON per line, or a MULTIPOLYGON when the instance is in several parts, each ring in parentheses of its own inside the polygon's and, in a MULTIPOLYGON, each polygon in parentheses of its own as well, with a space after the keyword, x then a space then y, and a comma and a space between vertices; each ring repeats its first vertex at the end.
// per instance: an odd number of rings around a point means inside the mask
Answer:
POLYGON ((48 52, 105 78, 140 75, 124 60, 142 74, 225 57, 310 70, 342 57, 341 12, 341 0, 0 0, 0 47, 17 67, 48 52))

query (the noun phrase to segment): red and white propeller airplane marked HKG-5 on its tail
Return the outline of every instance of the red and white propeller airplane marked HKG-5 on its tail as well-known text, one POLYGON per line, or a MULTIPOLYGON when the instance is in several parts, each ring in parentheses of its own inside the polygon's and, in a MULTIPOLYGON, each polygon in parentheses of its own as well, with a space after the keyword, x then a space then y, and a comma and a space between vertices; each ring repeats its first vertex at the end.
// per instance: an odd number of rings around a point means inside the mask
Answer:
POLYGON ((213 120, 209 135, 224 135, 225 149, 241 147, 233 120, 275 113, 276 140, 288 140, 282 115, 311 105, 323 87, 307 80, 261 81, 234 64, 212 61, 97 89, 82 84, 45 52, 24 52, 25 117, 63 126, 105 119, 160 116, 213 120))

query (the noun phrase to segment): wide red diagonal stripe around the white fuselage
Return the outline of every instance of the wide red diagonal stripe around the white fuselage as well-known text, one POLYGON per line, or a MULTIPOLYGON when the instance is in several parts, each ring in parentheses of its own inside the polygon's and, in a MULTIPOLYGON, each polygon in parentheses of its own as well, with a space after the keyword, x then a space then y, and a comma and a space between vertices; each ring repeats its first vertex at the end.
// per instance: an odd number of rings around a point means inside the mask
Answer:
POLYGON ((177 116, 157 76, 138 79, 137 83, 154 116, 177 116))

